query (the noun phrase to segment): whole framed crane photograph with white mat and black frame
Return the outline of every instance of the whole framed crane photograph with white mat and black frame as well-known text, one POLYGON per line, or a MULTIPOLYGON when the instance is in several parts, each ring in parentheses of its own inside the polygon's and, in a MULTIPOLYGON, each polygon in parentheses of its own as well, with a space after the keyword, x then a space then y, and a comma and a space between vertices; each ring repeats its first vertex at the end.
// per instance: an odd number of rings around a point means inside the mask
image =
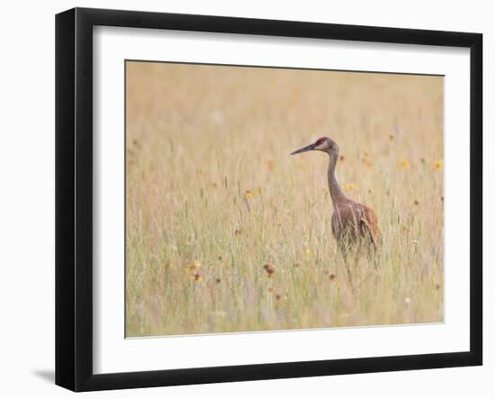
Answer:
POLYGON ((56 18, 56 383, 482 364, 482 35, 56 18))

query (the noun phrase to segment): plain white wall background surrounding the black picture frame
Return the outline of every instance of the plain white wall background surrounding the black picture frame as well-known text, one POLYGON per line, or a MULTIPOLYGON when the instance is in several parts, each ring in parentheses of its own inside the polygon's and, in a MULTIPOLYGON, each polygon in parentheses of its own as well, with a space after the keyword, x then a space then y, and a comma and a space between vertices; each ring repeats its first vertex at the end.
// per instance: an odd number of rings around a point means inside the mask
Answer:
MULTIPOLYGON (((66 397, 54 373, 54 14, 75 5, 190 14, 352 23, 484 34, 485 350, 483 367, 148 388, 85 397, 482 397, 495 395, 495 148, 488 137, 495 84, 490 2, 417 0, 277 3, 181 0, 4 2, 0 23, 0 394, 66 397), (490 101, 491 100, 491 101, 490 101), (489 182, 491 177, 491 182, 489 182)), ((466 149, 466 156, 468 156, 466 149)))

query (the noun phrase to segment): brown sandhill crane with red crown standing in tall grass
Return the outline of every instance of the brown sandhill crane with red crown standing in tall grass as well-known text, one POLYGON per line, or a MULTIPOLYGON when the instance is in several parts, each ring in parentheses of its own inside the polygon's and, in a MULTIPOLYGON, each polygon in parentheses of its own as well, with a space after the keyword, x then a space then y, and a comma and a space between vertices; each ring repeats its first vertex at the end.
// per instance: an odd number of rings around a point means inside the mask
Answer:
MULTIPOLYGON (((291 155, 314 150, 329 154, 329 190, 334 208, 331 220, 332 233, 346 263, 349 284, 353 287, 351 271, 347 262, 348 251, 349 249, 356 251, 356 262, 361 249, 365 249, 368 258, 374 255, 381 240, 378 219, 370 208, 349 199, 338 184, 335 172, 338 145, 335 141, 329 137, 321 137, 309 146, 293 151, 291 155)), ((374 267, 377 267, 376 258, 374 258, 374 267)))

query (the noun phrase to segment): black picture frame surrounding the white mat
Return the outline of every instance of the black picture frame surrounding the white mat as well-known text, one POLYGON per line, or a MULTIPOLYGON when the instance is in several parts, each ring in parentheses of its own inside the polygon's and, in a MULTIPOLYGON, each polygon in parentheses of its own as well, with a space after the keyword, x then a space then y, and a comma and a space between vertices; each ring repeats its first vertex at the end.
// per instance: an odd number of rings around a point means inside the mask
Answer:
MULTIPOLYGON (((466 244, 467 245, 467 244, 466 244)), ((56 384, 74 391, 482 365, 482 34, 75 8, 56 16, 56 384), (235 367, 93 372, 93 27, 452 46, 471 58, 470 350, 235 367)))

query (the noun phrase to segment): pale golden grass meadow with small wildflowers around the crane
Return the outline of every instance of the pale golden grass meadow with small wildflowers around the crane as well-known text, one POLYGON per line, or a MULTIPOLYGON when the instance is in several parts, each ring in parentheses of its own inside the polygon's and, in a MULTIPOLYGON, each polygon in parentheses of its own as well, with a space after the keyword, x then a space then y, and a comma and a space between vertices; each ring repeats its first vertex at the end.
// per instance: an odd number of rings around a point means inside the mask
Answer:
POLYGON ((442 322, 443 78, 127 64, 128 337, 442 322), (347 284, 329 135, 377 214, 347 284))

